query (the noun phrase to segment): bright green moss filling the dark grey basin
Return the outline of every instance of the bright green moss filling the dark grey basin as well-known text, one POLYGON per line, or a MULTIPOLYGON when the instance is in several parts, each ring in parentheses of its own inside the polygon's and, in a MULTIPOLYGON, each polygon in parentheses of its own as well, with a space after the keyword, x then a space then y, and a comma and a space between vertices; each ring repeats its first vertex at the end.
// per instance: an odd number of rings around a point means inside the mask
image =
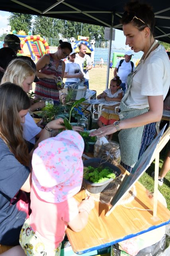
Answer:
POLYGON ((108 167, 105 167, 103 169, 102 166, 99 166, 97 168, 88 166, 87 168, 86 168, 86 171, 84 172, 84 178, 90 182, 102 183, 110 178, 112 179, 116 178, 116 175, 113 173, 113 170, 111 170, 108 167))

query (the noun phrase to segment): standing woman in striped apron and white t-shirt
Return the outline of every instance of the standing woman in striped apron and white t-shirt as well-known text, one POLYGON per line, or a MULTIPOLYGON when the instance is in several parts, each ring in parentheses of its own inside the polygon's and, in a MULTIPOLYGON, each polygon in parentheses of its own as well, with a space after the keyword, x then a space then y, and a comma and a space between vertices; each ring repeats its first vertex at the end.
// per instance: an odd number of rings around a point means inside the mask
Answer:
POLYGON ((121 24, 126 45, 144 54, 127 78, 120 121, 91 134, 102 137, 120 130, 121 164, 129 172, 154 138, 155 124, 161 120, 163 99, 170 85, 170 61, 164 47, 154 40, 154 23, 154 13, 147 4, 133 2, 125 6, 121 24))

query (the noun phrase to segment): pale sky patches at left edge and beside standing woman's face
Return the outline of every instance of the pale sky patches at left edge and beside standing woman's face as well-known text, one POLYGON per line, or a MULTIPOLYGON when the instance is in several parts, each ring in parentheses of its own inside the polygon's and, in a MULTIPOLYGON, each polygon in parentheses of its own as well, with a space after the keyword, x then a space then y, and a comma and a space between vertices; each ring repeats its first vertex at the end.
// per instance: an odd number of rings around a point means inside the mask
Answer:
MULTIPOLYGON (((3 34, 3 29, 5 29, 8 24, 8 17, 10 16, 9 12, 0 11, 0 34, 3 34)), ((121 30, 115 31, 115 41, 112 42, 112 47, 115 48, 125 48, 125 36, 121 30)))

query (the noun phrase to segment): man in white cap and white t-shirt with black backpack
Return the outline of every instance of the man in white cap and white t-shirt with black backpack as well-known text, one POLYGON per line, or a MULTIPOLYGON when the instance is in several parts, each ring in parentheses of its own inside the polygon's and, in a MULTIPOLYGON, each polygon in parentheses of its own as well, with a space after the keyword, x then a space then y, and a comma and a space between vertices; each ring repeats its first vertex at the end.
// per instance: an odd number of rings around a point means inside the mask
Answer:
POLYGON ((126 51, 125 52, 125 59, 119 60, 116 64, 115 70, 114 70, 114 76, 119 76, 121 79, 121 88, 123 92, 126 90, 126 80, 127 76, 135 69, 134 63, 131 61, 132 58, 132 52, 126 51))

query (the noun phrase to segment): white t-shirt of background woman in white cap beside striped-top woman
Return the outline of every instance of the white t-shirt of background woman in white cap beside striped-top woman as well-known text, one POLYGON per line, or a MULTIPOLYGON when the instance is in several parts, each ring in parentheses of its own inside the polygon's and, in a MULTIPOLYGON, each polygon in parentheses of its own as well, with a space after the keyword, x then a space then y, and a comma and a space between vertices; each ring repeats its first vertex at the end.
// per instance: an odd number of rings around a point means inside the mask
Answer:
MULTIPOLYGON (((67 72, 68 75, 74 75, 74 74, 78 74, 80 73, 80 65, 78 63, 75 62, 70 62, 68 60, 68 62, 66 62, 66 68, 65 68, 65 72, 67 72)), ((80 78, 66 78, 66 82, 79 82, 80 78)))

